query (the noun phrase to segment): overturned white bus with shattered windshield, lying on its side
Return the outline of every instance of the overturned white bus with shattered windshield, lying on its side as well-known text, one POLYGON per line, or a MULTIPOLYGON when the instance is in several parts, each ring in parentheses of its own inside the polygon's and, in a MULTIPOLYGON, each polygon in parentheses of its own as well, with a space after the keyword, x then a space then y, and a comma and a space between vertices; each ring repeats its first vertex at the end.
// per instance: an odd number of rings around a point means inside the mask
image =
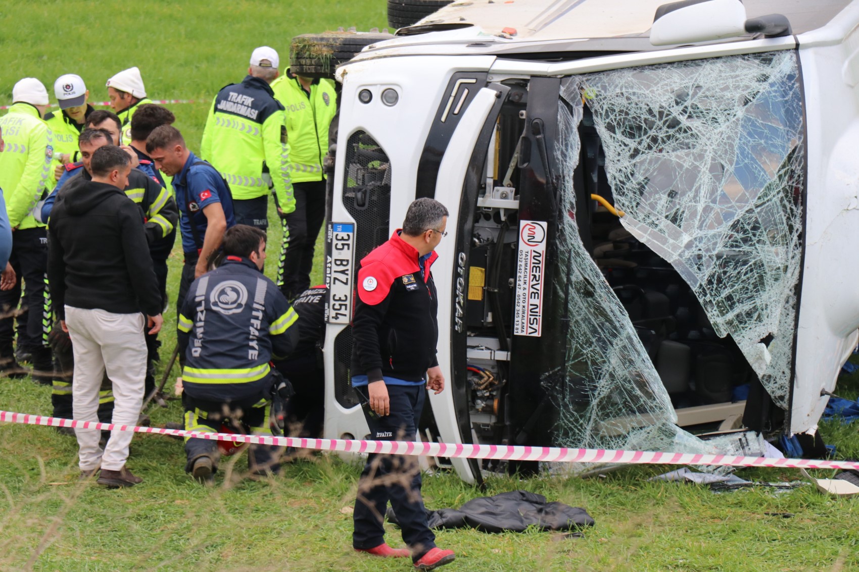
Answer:
POLYGON ((341 66, 326 437, 366 435, 357 267, 418 197, 453 231, 423 439, 813 432, 859 326, 857 26, 850 0, 480 0, 341 66))

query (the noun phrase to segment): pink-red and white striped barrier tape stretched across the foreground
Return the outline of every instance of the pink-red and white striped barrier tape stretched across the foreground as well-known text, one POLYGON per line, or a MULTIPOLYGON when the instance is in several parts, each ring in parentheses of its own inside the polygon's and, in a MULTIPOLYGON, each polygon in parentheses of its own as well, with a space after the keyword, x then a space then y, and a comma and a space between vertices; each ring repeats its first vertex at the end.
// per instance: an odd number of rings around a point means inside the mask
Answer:
POLYGON ((302 439, 299 437, 275 437, 271 435, 234 435, 231 433, 206 433, 184 429, 161 429, 157 427, 134 427, 72 421, 58 417, 42 417, 0 411, 0 422, 27 425, 50 425, 53 427, 79 427, 135 431, 156 435, 195 437, 212 441, 257 443, 277 447, 317 449, 320 451, 343 451, 345 453, 391 453, 430 457, 459 457, 465 459, 538 460, 552 463, 611 463, 648 465, 710 465, 710 466, 774 466, 802 469, 853 469, 859 470, 859 462, 813 459, 769 459, 765 457, 741 457, 734 455, 704 455, 698 453, 655 453, 648 451, 616 451, 612 449, 568 449, 564 447, 529 447, 509 445, 467 445, 463 443, 430 443, 424 441, 358 441, 346 439, 302 439))

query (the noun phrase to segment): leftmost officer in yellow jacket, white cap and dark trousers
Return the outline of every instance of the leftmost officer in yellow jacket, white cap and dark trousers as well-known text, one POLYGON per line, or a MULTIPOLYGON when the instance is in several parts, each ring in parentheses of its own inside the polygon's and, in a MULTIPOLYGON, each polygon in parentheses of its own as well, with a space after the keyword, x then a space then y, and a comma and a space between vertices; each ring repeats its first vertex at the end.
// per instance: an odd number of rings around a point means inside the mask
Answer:
POLYGON ((47 237, 45 225, 33 216, 40 207, 39 201, 47 196, 48 179, 52 176, 53 135, 42 120, 48 93, 42 82, 25 77, 12 88, 12 101, 9 113, 0 118, 5 143, 0 154, 0 188, 6 198, 9 226, 15 231, 9 262, 15 269, 16 282, 12 289, 0 291, 0 312, 9 316, 0 319, 0 372, 22 376, 12 350, 15 328, 14 318, 9 315, 9 310, 20 304, 23 312, 18 318, 22 326, 18 330, 18 347, 33 356, 38 372, 34 380, 50 385, 51 350, 42 343, 47 237))

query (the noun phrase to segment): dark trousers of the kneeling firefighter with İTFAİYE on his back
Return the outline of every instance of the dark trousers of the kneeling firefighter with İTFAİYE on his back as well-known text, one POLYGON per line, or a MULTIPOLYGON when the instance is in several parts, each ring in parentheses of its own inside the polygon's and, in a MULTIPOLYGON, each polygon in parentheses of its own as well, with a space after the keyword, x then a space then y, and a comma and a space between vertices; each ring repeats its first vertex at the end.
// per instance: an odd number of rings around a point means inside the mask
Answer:
MULTIPOLYGON (((182 406, 185 408, 186 431, 271 435, 269 428, 271 404, 266 399, 217 402, 194 399, 187 393, 183 393, 182 406), (221 425, 227 421, 227 430, 222 431, 221 425)), ((192 472, 194 461, 200 457, 212 459, 212 468, 217 470, 218 460, 221 458, 217 444, 218 441, 210 441, 209 439, 186 439, 187 462, 185 471, 192 472)), ((279 472, 280 458, 283 455, 282 448, 252 443, 247 448, 247 465, 250 471, 256 474, 279 472)))

